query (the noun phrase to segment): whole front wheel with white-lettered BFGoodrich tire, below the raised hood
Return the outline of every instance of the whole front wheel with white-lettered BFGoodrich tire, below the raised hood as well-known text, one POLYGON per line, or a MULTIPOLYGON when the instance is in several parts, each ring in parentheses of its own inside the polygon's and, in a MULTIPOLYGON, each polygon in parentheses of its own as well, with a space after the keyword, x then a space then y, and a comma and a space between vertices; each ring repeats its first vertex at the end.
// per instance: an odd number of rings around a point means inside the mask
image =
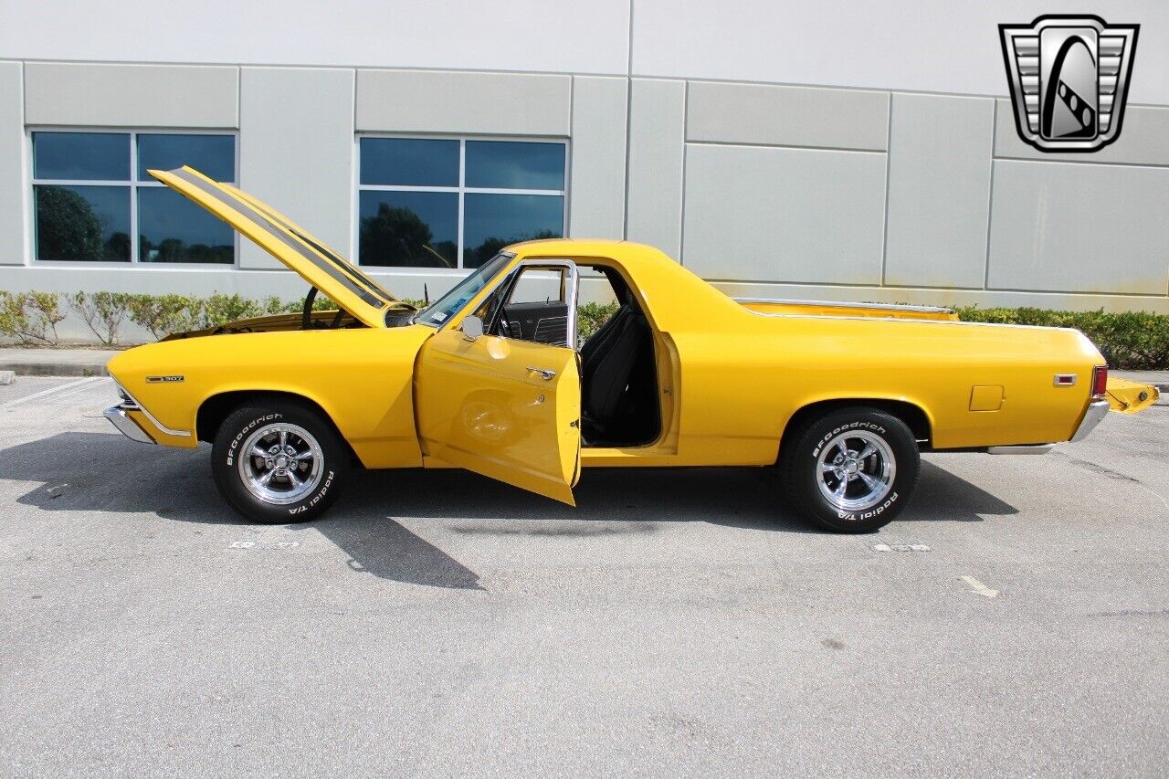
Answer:
POLYGON ((212 446, 212 475, 228 505, 263 524, 307 522, 337 498, 348 451, 333 426, 298 404, 233 412, 212 446))

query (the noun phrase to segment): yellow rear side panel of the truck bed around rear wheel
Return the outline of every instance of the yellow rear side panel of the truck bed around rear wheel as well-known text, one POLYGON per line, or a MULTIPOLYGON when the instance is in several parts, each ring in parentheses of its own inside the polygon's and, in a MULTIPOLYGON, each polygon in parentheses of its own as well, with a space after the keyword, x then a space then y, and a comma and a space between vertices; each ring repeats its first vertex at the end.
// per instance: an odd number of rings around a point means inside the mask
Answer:
POLYGON ((732 462, 774 461, 791 416, 826 400, 913 404, 938 449, 1066 441, 1092 367, 1104 364, 1079 332, 1043 328, 748 315, 727 330, 673 337, 682 448, 714 446, 732 462), (1056 387, 1056 373, 1078 382, 1056 387), (970 411, 973 388, 985 385, 1003 388, 1002 406, 970 411))

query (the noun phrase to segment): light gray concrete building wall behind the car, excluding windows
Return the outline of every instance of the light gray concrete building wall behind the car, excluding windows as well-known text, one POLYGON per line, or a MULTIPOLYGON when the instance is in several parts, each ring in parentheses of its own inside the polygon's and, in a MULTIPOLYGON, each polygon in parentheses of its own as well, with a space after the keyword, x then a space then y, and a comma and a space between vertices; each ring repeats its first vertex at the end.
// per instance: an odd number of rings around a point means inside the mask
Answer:
MULTIPOLYGON (((118 47, 64 5, 0 29, 0 289, 300 294, 247 240, 237 267, 32 258, 32 130, 186 127, 237 132, 240 185, 351 256, 362 133, 542 138, 568 145, 570 236, 656 244, 732 294, 1169 311, 1163 4, 1093 8, 1143 27, 1123 133, 1087 156, 1017 138, 996 25, 1044 9, 1005 1, 346 0, 263 36, 248 8, 134 1, 118 47)), ((371 269, 409 297, 462 273, 371 269)))

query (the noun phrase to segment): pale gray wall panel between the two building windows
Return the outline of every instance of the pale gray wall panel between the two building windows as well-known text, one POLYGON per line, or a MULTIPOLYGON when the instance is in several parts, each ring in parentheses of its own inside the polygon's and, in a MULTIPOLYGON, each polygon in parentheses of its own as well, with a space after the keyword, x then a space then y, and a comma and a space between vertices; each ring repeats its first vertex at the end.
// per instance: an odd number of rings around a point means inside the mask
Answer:
MULTIPOLYGON (((243 68, 240 115, 240 186, 348 256, 353 71, 243 68)), ((247 239, 240 266, 283 267, 247 239)))

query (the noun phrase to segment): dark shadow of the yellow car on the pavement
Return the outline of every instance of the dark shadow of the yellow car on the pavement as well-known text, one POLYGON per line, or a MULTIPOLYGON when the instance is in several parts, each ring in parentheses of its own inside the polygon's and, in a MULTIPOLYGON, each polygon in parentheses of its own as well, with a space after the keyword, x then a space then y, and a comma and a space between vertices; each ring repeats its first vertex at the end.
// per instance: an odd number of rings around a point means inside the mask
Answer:
MULTIPOLYGON (((219 497, 206 446, 172 449, 117 434, 61 433, 0 450, 0 478, 39 482, 18 502, 46 511, 154 513, 177 522, 250 525, 219 497)), ((902 519, 976 521, 981 513, 1016 512, 931 463, 922 463, 918 490, 902 519)), ((818 532, 780 505, 774 485, 758 468, 590 469, 574 492, 576 509, 457 469, 354 471, 325 517, 290 528, 319 531, 350 557, 354 571, 462 590, 482 588, 478 575, 395 517, 435 519, 451 532, 484 536, 646 533, 665 522, 818 532)))

